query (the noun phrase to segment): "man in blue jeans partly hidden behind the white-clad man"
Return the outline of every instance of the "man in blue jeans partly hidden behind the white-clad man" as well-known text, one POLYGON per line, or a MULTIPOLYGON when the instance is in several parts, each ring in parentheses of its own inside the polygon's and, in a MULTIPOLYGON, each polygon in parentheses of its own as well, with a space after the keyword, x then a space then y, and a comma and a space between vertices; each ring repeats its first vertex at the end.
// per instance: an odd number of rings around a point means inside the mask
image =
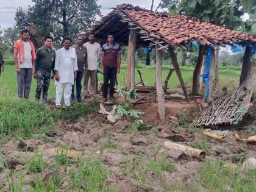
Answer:
MULTIPOLYGON (((82 79, 84 76, 84 69, 87 68, 87 48, 84 46, 84 37, 79 35, 76 40, 76 44, 71 46, 72 48, 76 49, 76 56, 77 56, 77 77, 75 80, 76 84, 76 99, 78 102, 82 101, 81 99, 81 90, 82 90, 82 79)), ((71 94, 71 101, 74 100, 74 85, 72 85, 72 94, 71 94)))

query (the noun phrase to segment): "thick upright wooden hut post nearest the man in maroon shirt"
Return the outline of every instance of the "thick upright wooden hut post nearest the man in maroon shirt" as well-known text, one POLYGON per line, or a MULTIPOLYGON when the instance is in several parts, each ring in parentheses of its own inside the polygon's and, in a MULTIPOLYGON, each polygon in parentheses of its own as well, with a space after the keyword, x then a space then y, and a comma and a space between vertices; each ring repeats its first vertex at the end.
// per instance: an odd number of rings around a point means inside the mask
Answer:
POLYGON ((135 51, 136 51, 137 29, 131 29, 129 34, 127 53, 127 82, 126 89, 134 88, 135 84, 135 51))

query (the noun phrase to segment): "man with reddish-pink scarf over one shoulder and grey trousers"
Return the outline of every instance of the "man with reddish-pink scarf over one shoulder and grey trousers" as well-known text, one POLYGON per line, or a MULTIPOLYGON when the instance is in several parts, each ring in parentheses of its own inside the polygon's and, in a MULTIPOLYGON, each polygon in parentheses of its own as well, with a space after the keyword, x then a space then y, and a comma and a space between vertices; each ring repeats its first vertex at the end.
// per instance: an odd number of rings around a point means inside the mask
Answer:
POLYGON ((21 39, 13 46, 13 59, 17 71, 18 96, 29 98, 32 74, 35 73, 35 48, 29 40, 30 31, 21 30, 21 39))

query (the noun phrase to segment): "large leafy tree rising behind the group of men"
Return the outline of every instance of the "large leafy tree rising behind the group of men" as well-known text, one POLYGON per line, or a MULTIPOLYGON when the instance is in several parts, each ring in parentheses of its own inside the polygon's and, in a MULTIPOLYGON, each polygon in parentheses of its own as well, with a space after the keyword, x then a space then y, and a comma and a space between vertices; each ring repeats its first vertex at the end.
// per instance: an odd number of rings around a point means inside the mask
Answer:
POLYGON ((90 27, 95 16, 100 14, 96 0, 32 0, 29 18, 37 34, 51 34, 55 40, 69 36, 75 38, 79 32, 90 27))

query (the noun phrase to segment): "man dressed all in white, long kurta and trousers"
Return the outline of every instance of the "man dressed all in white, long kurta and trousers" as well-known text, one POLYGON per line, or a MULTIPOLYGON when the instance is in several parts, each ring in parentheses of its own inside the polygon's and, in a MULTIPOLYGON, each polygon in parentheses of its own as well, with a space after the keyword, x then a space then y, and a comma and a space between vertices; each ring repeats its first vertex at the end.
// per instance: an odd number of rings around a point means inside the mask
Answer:
POLYGON ((70 106, 70 98, 72 93, 72 85, 76 79, 77 73, 77 57, 76 50, 71 48, 71 38, 63 38, 63 48, 56 52, 55 58, 55 85, 56 96, 55 105, 61 107, 62 91, 64 88, 64 104, 70 106))

